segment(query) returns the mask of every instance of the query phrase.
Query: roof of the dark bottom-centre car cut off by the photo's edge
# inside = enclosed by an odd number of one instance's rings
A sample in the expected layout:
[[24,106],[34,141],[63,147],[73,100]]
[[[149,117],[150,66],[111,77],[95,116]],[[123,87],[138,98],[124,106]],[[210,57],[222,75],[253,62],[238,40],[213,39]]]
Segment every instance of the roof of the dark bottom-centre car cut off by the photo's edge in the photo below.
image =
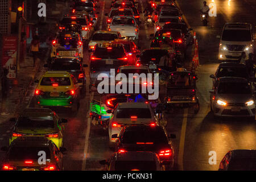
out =
[[127,152],[116,152],[116,160],[121,161],[155,161],[157,158],[154,152],[144,152],[144,151],[127,151]]

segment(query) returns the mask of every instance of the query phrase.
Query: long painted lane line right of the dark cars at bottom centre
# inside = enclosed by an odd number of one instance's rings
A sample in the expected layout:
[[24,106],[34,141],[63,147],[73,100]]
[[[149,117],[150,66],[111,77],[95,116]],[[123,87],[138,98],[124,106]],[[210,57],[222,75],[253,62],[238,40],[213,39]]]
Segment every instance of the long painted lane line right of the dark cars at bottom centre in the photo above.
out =
[[182,127],[181,127],[179,156],[178,156],[178,164],[180,167],[179,169],[181,171],[183,171],[183,154],[184,154],[184,144],[185,144],[187,121],[188,121],[188,108],[185,108],[184,114],[183,114]]

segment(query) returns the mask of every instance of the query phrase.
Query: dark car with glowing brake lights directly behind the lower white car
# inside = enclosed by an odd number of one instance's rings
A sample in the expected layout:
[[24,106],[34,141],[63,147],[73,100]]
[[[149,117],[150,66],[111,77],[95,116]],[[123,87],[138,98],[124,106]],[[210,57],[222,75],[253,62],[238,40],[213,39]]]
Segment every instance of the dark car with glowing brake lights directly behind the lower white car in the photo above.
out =
[[174,167],[175,151],[170,139],[175,138],[175,135],[168,135],[162,126],[127,125],[123,127],[119,137],[115,134],[112,138],[116,139],[115,151],[155,152],[167,169]]

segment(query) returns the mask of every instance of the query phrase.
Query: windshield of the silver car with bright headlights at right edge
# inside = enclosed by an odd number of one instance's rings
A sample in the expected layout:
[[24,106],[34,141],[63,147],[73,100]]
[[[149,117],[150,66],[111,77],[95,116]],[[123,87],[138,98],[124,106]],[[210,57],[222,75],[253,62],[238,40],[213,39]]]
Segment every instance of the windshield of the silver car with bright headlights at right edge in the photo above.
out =
[[250,85],[241,82],[221,82],[218,86],[220,94],[251,94]]

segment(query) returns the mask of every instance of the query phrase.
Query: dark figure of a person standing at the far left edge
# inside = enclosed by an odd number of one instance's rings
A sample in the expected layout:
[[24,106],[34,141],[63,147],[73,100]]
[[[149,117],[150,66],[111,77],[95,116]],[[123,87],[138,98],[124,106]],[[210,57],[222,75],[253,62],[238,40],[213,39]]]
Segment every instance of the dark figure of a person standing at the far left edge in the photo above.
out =
[[8,80],[7,80],[7,74],[9,73],[8,69],[6,69],[5,67],[3,67],[2,70],[2,74],[1,74],[1,93],[2,93],[2,103],[1,103],[1,110],[2,113],[1,115],[9,115],[10,113],[7,112],[6,109],[6,99],[7,99],[7,93],[9,90],[9,84],[8,84]]

